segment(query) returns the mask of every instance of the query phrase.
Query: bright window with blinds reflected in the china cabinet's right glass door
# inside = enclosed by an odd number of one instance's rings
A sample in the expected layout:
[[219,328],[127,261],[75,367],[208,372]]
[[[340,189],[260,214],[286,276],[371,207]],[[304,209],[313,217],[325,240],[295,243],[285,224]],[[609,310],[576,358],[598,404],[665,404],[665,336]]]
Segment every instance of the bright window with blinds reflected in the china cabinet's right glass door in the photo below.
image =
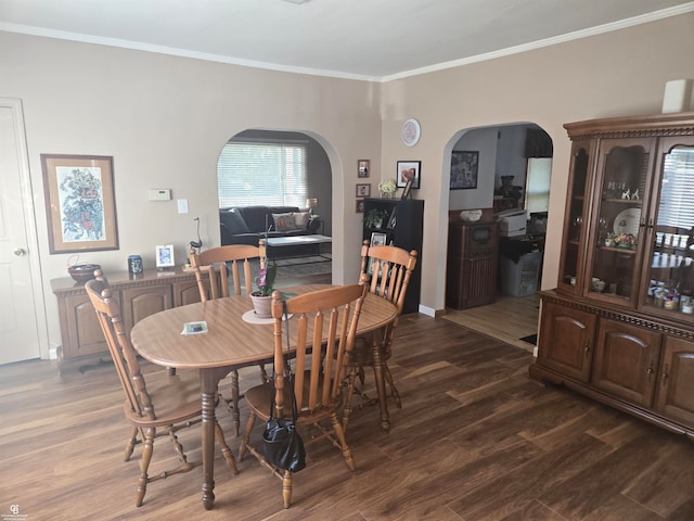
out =
[[694,149],[678,147],[665,156],[657,225],[694,227]]

